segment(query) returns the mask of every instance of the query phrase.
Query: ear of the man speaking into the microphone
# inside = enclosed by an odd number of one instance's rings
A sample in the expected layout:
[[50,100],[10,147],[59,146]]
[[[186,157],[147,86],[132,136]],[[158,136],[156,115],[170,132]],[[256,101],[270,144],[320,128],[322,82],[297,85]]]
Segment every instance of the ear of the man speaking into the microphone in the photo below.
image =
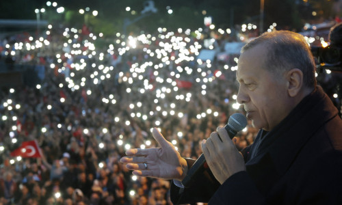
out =
[[289,96],[297,96],[303,87],[303,72],[298,68],[289,70],[286,74],[287,79],[287,91]]

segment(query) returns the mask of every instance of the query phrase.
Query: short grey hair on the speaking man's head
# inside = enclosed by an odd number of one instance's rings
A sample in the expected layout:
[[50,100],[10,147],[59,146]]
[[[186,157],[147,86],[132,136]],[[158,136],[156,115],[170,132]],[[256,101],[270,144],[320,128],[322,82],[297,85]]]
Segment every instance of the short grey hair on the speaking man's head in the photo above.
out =
[[315,60],[304,37],[291,31],[265,32],[258,38],[248,42],[241,53],[259,44],[267,46],[265,68],[274,74],[282,74],[287,70],[298,68],[303,72],[306,87],[315,87]]

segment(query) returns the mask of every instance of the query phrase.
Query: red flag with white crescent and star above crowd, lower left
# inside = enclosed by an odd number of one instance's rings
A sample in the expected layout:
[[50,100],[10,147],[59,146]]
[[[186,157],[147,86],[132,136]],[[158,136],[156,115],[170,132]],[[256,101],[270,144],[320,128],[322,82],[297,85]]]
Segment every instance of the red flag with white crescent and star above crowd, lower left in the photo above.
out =
[[21,146],[11,152],[11,156],[22,156],[27,158],[40,158],[42,154],[40,153],[40,148],[36,140],[23,141]]

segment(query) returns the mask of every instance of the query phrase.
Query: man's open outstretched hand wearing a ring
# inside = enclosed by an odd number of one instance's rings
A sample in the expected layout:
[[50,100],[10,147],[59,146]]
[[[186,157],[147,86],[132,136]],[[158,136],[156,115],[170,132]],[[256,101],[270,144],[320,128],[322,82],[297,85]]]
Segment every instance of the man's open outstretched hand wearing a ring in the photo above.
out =
[[136,176],[183,180],[187,174],[187,162],[181,157],[170,141],[153,128],[153,137],[160,148],[130,149],[127,156],[120,159],[127,163],[127,169],[134,170]]

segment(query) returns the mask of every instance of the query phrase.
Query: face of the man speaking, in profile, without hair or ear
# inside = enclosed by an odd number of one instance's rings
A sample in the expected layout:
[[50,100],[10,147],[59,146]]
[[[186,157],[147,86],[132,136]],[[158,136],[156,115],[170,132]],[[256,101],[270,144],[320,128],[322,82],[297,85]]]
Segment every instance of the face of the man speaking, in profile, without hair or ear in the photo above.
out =
[[289,113],[287,81],[283,74],[267,71],[267,47],[259,44],[241,54],[238,61],[237,102],[244,105],[247,118],[256,128],[271,131]]

